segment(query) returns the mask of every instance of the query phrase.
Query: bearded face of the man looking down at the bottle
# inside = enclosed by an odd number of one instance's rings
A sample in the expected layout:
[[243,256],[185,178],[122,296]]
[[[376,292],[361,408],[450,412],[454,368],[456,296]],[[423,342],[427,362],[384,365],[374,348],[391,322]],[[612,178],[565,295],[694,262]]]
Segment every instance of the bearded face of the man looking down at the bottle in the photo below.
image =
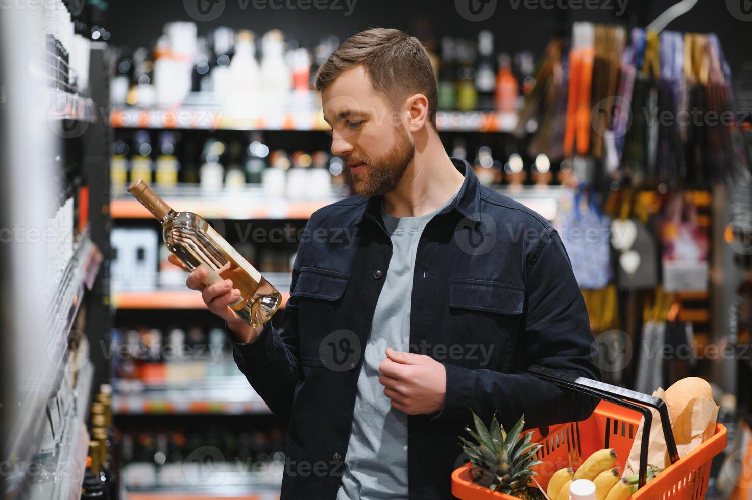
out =
[[324,120],[332,126],[332,153],[366,198],[392,191],[413,159],[411,135],[384,97],[374,92],[362,66],[343,71],[321,92]]

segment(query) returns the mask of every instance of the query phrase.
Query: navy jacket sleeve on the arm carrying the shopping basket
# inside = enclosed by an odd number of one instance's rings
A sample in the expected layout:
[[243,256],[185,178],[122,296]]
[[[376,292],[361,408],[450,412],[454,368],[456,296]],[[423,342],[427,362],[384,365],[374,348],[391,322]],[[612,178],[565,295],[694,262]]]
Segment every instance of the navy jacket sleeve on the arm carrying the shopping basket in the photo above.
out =
[[[526,317],[518,337],[521,346],[515,350],[523,356],[521,366],[540,365],[599,380],[593,332],[569,256],[556,229],[549,228],[541,241],[527,265]],[[496,412],[507,429],[524,414],[530,428],[584,420],[598,403],[525,371],[502,374],[444,366],[447,389],[435,421],[465,426],[472,408],[485,422]]]

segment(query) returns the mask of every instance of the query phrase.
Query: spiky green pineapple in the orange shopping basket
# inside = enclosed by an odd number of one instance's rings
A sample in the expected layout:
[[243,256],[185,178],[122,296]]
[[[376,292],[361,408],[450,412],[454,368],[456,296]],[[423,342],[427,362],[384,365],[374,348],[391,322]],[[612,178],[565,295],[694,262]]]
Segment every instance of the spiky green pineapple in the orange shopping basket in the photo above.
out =
[[464,443],[460,444],[462,450],[465,450],[472,462],[472,480],[482,486],[488,486],[491,491],[523,500],[543,498],[541,490],[532,485],[532,476],[535,476],[532,467],[543,463],[535,459],[535,453],[543,445],[530,442],[532,433],[527,433],[520,439],[525,416],[520,417],[510,432],[505,432],[496,421],[496,414],[488,429],[475,412],[471,413],[475,422],[475,432],[469,426],[465,427],[465,431],[478,443],[473,444],[462,436],[459,436],[459,439]]

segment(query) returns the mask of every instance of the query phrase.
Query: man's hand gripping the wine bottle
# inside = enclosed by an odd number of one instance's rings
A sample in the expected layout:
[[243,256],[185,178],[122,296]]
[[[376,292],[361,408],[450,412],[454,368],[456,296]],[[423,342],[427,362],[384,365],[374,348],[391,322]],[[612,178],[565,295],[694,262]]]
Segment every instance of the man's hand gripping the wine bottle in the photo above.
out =
[[[190,269],[186,268],[186,266],[183,265],[183,262],[180,262],[180,259],[177,259],[176,256],[170,254],[168,259],[171,264],[177,265],[177,267],[182,268],[185,271],[190,271]],[[232,309],[229,308],[229,305],[232,304],[232,302],[238,300],[240,290],[232,288],[231,280],[223,280],[220,283],[206,286],[204,280],[207,276],[208,271],[206,269],[196,269],[196,271],[191,272],[188,279],[186,279],[186,286],[190,289],[201,292],[201,297],[204,299],[206,307],[209,311],[217,314],[217,316],[227,322],[227,326],[234,334],[235,341],[246,344],[247,342],[255,340],[261,333],[263,326],[257,326],[255,328],[250,326],[248,323],[241,320],[241,318],[238,317],[238,314],[235,314],[235,311],[232,311]]]

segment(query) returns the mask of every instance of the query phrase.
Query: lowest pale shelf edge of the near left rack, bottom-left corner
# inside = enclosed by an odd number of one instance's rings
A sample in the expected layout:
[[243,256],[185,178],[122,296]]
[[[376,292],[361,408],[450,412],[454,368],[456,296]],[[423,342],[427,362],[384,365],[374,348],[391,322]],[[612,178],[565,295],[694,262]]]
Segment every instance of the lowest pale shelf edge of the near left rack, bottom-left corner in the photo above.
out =
[[87,364],[80,369],[74,411],[65,421],[62,445],[57,457],[54,477],[43,483],[32,483],[30,500],[68,500],[80,498],[83,474],[86,471],[86,454],[89,452],[89,432],[86,430],[86,412],[89,393],[94,379],[94,366]]

